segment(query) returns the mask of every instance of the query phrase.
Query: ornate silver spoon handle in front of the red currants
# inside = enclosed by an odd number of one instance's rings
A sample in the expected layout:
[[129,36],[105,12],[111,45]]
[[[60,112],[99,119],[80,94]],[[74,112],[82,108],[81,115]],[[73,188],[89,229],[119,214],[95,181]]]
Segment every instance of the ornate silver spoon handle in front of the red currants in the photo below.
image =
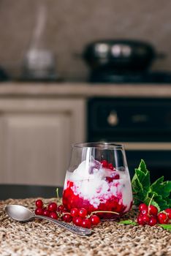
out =
[[88,229],[88,228],[85,228],[85,227],[77,227],[77,226],[74,226],[74,225],[70,225],[66,222],[60,222],[60,220],[58,220],[58,219],[51,219],[49,217],[45,217],[45,216],[42,216],[42,215],[34,215],[34,218],[49,220],[50,222],[56,223],[59,226],[66,228],[66,230],[69,230],[72,233],[76,233],[77,235],[80,235],[80,236],[91,235],[91,230]]

